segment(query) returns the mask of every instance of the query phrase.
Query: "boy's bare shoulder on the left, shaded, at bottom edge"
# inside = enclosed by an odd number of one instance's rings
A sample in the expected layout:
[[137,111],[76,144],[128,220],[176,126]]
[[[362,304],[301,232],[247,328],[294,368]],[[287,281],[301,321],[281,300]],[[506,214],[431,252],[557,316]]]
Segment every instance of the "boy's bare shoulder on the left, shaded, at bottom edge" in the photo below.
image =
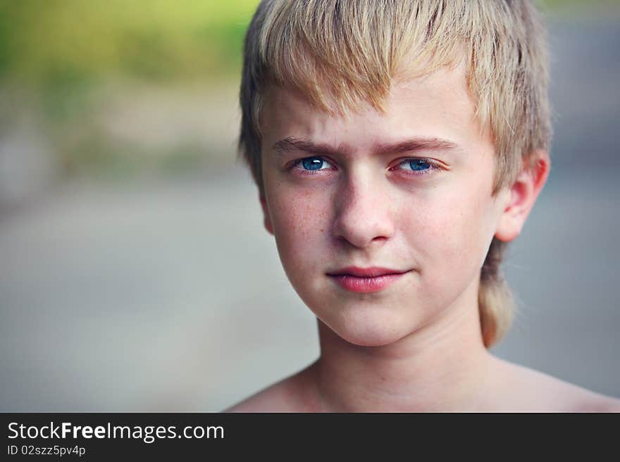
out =
[[223,412],[316,411],[310,391],[309,368],[280,380]]

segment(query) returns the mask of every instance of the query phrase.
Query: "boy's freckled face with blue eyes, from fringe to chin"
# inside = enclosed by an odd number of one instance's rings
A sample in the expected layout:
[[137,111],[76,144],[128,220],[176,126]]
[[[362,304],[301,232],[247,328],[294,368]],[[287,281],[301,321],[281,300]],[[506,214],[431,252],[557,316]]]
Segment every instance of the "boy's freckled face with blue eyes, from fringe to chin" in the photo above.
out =
[[445,309],[477,306],[511,194],[491,195],[494,148],[464,68],[397,84],[383,114],[333,117],[280,88],[266,99],[265,224],[321,321],[349,342],[385,345]]

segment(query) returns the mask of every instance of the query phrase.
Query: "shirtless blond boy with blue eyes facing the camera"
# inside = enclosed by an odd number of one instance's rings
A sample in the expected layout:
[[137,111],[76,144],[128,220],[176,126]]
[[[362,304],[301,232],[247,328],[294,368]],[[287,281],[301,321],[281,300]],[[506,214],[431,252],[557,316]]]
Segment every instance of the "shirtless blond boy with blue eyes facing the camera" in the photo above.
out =
[[618,411],[488,352],[550,169],[528,1],[266,0],[240,146],[321,357],[230,411]]

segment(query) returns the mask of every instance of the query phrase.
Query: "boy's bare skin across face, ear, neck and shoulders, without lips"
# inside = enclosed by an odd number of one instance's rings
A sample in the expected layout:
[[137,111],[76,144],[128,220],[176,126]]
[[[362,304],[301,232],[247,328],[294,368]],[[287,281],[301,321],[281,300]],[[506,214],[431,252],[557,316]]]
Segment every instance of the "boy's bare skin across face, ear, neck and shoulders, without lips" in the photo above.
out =
[[[328,115],[272,89],[261,124],[265,227],[316,314],[321,357],[228,411],[620,411],[483,345],[481,265],[494,236],[519,236],[550,160],[533,153],[492,194],[494,146],[463,66],[397,84],[385,113]],[[401,276],[364,293],[333,277],[347,267]]]

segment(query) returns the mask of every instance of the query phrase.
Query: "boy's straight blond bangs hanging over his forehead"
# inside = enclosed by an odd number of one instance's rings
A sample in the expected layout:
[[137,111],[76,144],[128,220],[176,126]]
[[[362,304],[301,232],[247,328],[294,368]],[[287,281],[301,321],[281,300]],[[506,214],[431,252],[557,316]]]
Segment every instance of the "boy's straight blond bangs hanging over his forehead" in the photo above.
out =
[[459,44],[470,27],[459,3],[274,0],[259,37],[265,79],[329,113],[361,102],[383,110],[395,79],[463,58]]

